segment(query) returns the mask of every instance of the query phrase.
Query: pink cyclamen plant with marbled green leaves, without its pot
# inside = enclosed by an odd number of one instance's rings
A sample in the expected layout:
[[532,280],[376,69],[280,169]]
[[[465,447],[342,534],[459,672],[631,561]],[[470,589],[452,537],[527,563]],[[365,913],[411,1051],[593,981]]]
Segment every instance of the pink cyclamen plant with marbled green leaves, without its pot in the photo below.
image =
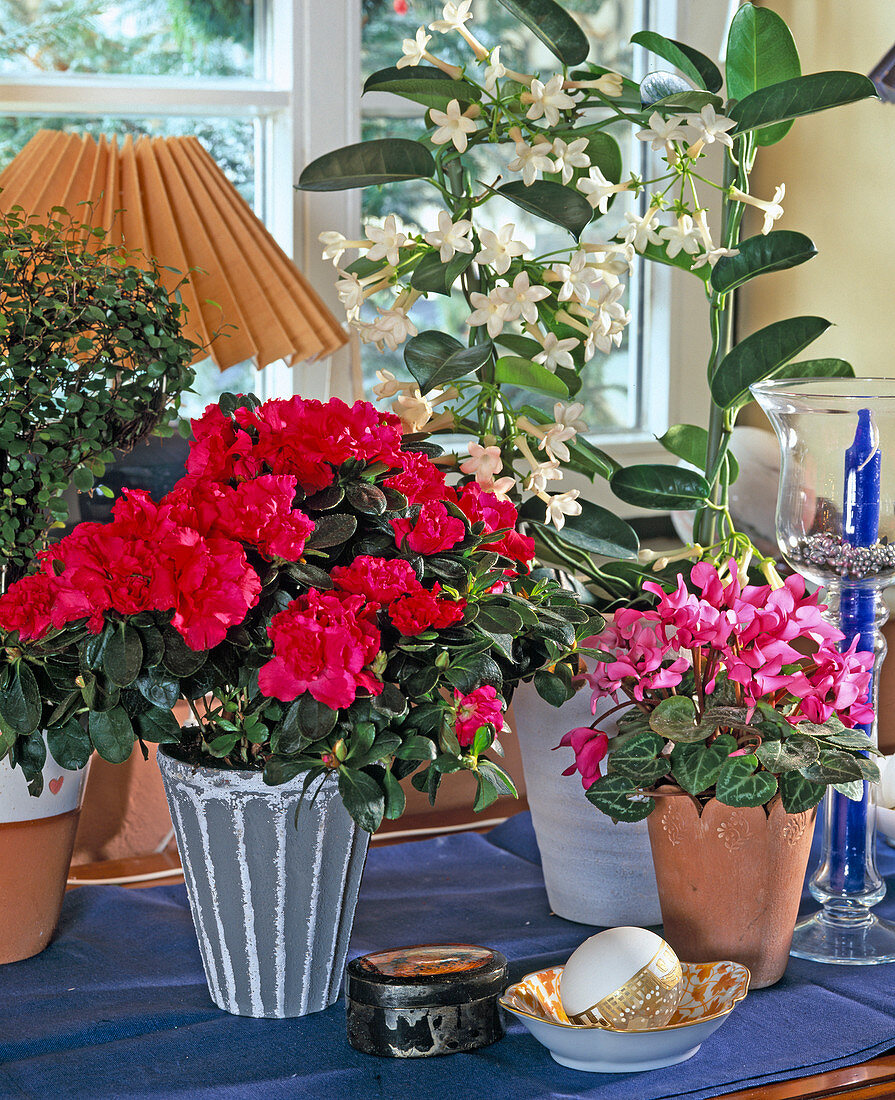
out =
[[830,784],[860,799],[863,780],[879,780],[862,755],[876,750],[853,729],[873,721],[873,654],[855,651],[857,637],[836,648],[843,635],[800,576],[742,586],[733,562],[726,579],[699,562],[671,593],[644,587],[655,607],[617,612],[593,640],[604,657],[587,681],[594,713],[606,708],[561,741],[575,754],[565,774],[581,774],[598,810],[639,821],[651,795],[701,809],[712,796],[759,806],[778,793],[799,813]]

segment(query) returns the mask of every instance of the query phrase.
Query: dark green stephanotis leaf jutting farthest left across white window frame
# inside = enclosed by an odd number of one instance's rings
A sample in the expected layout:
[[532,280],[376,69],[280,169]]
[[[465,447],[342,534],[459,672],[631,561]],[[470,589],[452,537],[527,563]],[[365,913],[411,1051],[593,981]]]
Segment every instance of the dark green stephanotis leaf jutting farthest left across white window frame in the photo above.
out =
[[383,138],[324,153],[305,168],[297,187],[302,191],[339,191],[401,179],[428,179],[434,174],[432,154],[420,142]]

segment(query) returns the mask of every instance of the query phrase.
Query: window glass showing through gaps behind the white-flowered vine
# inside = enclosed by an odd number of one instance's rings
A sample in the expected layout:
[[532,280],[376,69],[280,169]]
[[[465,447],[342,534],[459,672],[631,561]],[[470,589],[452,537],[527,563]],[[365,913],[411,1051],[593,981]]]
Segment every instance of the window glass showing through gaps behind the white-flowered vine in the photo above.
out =
[[[593,0],[565,0],[567,10],[575,12],[581,25],[592,40],[590,61],[625,74],[632,73],[632,53],[630,36],[639,26],[642,4],[638,0],[604,0],[596,6]],[[365,76],[379,68],[395,64],[400,57],[400,42],[412,38],[419,25],[428,26],[430,22],[441,18],[442,0],[407,0],[407,14],[396,13],[394,0],[364,0],[364,73]],[[596,10],[595,10],[596,9]],[[524,26],[521,26],[513,15],[498,3],[497,0],[475,0],[473,4],[475,19],[471,25],[476,36],[487,47],[500,45],[500,58],[507,65],[522,72],[557,72],[559,63],[546,47]],[[638,26],[634,23],[638,23]],[[432,33],[429,48],[438,57],[456,64],[468,64],[471,51],[456,34]],[[408,118],[408,110],[413,110],[407,101],[396,98],[397,111],[404,117],[368,117],[364,120],[364,140],[374,138],[417,138],[423,132],[420,118]],[[420,114],[422,108],[419,108]],[[611,132],[611,131],[610,131]],[[643,155],[641,143],[632,138],[630,128],[620,128],[614,136],[622,145],[622,156],[626,165],[638,165]],[[476,161],[477,178],[493,182],[498,173],[504,172],[512,158],[511,146],[496,148],[494,146],[478,147],[471,154]],[[395,213],[412,232],[428,232],[435,227],[438,211],[441,209],[438,193],[423,180],[411,180],[406,184],[390,185],[383,188],[368,187],[363,191],[363,216],[367,218],[385,218]],[[629,195],[618,196],[608,216],[585,231],[588,241],[606,241],[623,224],[626,210],[632,209],[633,199]],[[490,199],[476,211],[477,224],[488,229],[497,229],[506,222],[516,227],[513,237],[531,246],[530,255],[549,253],[554,250],[568,249],[571,238],[563,230],[550,222],[543,221],[509,202]],[[576,400],[586,406],[586,419],[593,430],[604,433],[630,432],[643,428],[642,410],[639,395],[643,387],[639,384],[641,362],[639,349],[642,344],[641,331],[643,309],[637,305],[639,295],[639,276],[634,274],[628,279],[628,290],[625,306],[632,310],[632,321],[626,328],[621,346],[611,354],[597,355],[587,364],[582,375],[582,389]],[[383,296],[379,305],[389,305],[387,296]],[[440,329],[453,336],[463,337],[468,308],[458,292],[451,298],[443,295],[430,295],[420,299],[415,307],[412,318],[417,327],[423,329]],[[512,329],[515,331],[515,329]],[[369,392],[375,383],[376,371],[388,370],[398,377],[408,377],[404,366],[402,349],[379,353],[375,346],[362,345],[362,363],[364,384]],[[553,402],[548,397],[526,394],[526,400],[551,409]]]

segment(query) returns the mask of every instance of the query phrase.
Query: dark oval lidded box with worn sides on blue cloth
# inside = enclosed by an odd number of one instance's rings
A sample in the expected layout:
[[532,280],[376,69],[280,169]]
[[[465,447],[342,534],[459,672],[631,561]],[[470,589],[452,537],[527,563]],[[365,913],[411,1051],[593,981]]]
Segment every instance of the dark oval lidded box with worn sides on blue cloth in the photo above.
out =
[[363,955],[347,966],[349,1042],[393,1058],[488,1046],[504,1035],[497,998],[506,987],[506,958],[474,944]]

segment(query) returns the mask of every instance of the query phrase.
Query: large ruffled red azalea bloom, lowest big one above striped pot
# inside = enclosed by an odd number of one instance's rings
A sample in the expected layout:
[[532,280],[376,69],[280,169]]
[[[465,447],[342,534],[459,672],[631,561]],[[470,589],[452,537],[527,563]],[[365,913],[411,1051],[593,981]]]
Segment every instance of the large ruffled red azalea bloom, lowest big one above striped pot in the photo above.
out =
[[376,606],[363,596],[311,588],[270,619],[274,656],[258,672],[263,695],[289,703],[306,692],[339,710],[358,691],[378,695],[371,666],[379,652]]

